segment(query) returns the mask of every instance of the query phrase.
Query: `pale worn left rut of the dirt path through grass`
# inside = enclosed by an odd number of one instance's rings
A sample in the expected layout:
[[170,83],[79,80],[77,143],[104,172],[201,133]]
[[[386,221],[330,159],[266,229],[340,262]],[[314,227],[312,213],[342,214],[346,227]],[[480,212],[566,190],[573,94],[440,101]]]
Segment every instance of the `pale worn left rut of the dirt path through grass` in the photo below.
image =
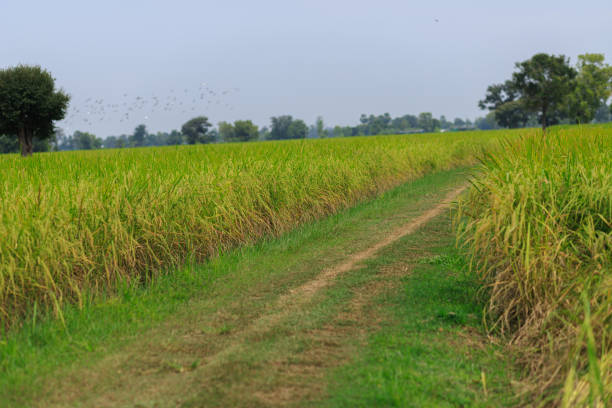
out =
[[[275,336],[275,330],[281,330],[282,337],[282,322],[299,319],[303,309],[308,308],[322,289],[329,287],[340,275],[374,257],[383,248],[414,233],[440,215],[465,189],[465,186],[453,189],[433,208],[392,230],[382,240],[348,256],[340,264],[322,270],[314,279],[279,296],[273,307],[249,324],[226,335],[221,333],[210,336],[202,333],[201,322],[184,322],[185,327],[181,327],[179,332],[170,331],[165,337],[163,333],[158,333],[152,336],[148,343],[110,355],[93,367],[72,373],[71,378],[67,380],[79,384],[78,387],[57,387],[49,390],[49,398],[41,401],[38,406],[192,406],[185,403],[189,400],[186,397],[197,394],[202,388],[214,393],[214,390],[211,391],[211,386],[214,387],[211,384],[224,381],[227,376],[248,375],[243,372],[248,371],[248,364],[245,366],[240,361],[240,356],[248,354],[254,344],[258,345],[270,336]],[[367,287],[364,289],[367,290]],[[355,305],[350,307],[354,309]],[[331,334],[332,337],[337,335],[338,333]],[[322,338],[324,341],[331,341],[329,333]],[[320,358],[318,360],[317,364],[325,364]],[[262,363],[256,361],[249,364]],[[227,381],[232,381],[232,378],[227,378]],[[237,388],[233,392],[248,391]],[[270,393],[260,393],[260,405],[285,405],[296,396],[294,394],[285,388],[273,392],[274,398],[270,397]],[[280,398],[276,398],[279,395]]]

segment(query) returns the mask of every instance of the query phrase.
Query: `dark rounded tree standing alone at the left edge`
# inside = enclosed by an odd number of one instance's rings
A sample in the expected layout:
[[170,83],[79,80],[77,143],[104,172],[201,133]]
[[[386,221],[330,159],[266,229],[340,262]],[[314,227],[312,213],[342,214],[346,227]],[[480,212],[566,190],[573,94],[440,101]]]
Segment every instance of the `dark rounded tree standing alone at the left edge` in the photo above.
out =
[[53,137],[53,122],[66,115],[70,97],[40,66],[0,70],[0,134],[19,140],[22,156],[31,156],[34,138]]

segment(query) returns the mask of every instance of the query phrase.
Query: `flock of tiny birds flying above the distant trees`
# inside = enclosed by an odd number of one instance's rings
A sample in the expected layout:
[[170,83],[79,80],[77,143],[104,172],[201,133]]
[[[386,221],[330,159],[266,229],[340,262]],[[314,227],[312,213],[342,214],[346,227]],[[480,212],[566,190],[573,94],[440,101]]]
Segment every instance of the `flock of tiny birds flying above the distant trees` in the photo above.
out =
[[238,88],[215,90],[202,82],[198,87],[170,89],[165,96],[141,96],[123,93],[120,101],[87,98],[71,101],[62,127],[66,130],[76,126],[93,126],[106,121],[146,123],[154,115],[164,112],[182,114],[201,113],[213,106],[233,110],[226,101]]

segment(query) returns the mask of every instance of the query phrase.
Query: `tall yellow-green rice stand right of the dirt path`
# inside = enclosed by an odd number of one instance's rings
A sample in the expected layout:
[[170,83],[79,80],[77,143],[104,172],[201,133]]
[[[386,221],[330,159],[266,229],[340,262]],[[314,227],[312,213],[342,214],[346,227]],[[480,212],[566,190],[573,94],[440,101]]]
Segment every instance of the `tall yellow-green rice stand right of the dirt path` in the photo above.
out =
[[612,127],[507,141],[457,215],[492,329],[527,368],[526,400],[610,406]]

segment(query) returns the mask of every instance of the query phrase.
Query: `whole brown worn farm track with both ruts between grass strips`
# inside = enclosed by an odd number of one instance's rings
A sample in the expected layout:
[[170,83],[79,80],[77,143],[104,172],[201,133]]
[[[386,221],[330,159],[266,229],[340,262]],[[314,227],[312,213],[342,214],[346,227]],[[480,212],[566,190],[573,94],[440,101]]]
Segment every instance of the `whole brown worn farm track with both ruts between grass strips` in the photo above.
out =
[[[290,328],[291,322],[300,321],[305,311],[316,307],[317,295],[324,288],[333,285],[342,274],[375,257],[383,248],[414,233],[442,214],[465,189],[465,185],[452,189],[433,207],[392,229],[382,239],[350,254],[334,266],[323,268],[313,279],[289,288],[257,316],[249,316],[247,313],[246,318],[236,323],[231,312],[218,310],[214,316],[207,318],[209,325],[221,327],[214,333],[203,330],[201,321],[173,322],[162,330],[165,333],[157,333],[150,339],[135,342],[142,344],[141,346],[128,347],[85,370],[77,369],[70,373],[64,384],[73,383],[72,379],[80,386],[55,388],[55,384],[53,389],[48,391],[49,398],[39,401],[37,406],[209,406],[189,401],[194,401],[192,397],[201,393],[201,389],[206,389],[207,394],[215,394],[215,383],[249,382],[245,376],[248,376],[249,367],[252,365],[277,366],[274,370],[278,371],[278,365],[282,366],[283,363],[274,359],[266,361],[267,357],[264,356],[262,361],[249,361],[241,356],[247,355],[253,344],[261,345],[270,340],[273,340],[275,347],[278,343],[282,347],[285,337],[295,336],[295,332]],[[405,268],[402,271],[406,273]],[[293,386],[272,386],[268,392],[257,391],[254,393],[254,399],[245,406],[286,406],[323,391],[321,380],[324,370],[340,364],[348,357],[346,350],[339,347],[341,338],[355,336],[372,324],[360,310],[363,304],[368,302],[367,299],[378,293],[378,289],[364,285],[360,290],[347,306],[348,313],[352,314],[353,320],[357,320],[358,327],[307,330],[308,341],[318,344],[319,348],[315,353],[317,356],[311,353],[310,358],[306,358],[308,361],[304,361],[303,355],[296,355],[296,358],[302,360],[302,363],[298,364],[300,371],[307,371],[298,373],[297,382],[304,382],[305,374],[310,382]],[[231,327],[232,324],[238,327]],[[224,327],[231,328],[225,330]],[[281,367],[280,370],[288,378],[296,375],[287,372],[286,367]],[[236,384],[233,392],[253,392],[253,389],[249,388],[248,384]],[[226,406],[242,405],[236,401],[228,404]],[[210,406],[223,404],[211,402]]]

